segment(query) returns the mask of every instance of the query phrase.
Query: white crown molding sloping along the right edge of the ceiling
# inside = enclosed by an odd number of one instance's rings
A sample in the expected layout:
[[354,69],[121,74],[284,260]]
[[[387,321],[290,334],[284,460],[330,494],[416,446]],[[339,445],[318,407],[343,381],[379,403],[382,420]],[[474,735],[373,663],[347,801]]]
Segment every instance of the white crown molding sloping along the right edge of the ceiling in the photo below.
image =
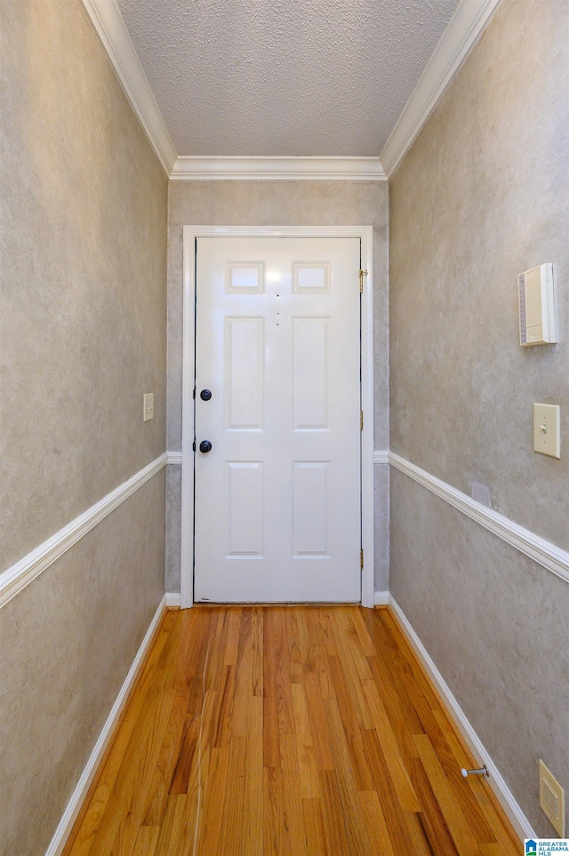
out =
[[500,3],[501,0],[461,0],[456,7],[453,18],[381,151],[381,163],[389,177],[412,147]]

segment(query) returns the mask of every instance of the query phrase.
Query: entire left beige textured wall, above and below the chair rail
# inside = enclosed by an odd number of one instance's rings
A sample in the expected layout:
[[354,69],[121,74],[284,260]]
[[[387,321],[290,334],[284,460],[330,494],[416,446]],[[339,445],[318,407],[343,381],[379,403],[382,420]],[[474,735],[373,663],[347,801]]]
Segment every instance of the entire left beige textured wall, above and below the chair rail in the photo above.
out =
[[[167,180],[78,0],[2,0],[0,63],[2,572],[164,452]],[[2,856],[44,852],[156,612],[164,502],[0,610]]]

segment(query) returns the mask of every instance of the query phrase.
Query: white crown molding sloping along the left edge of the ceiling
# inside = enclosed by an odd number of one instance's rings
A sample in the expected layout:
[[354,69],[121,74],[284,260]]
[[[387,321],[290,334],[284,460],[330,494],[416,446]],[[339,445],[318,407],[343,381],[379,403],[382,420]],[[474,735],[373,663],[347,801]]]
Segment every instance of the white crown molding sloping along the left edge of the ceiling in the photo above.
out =
[[81,0],[111,66],[148,136],[164,171],[170,176],[176,150],[134,50],[116,0]]

